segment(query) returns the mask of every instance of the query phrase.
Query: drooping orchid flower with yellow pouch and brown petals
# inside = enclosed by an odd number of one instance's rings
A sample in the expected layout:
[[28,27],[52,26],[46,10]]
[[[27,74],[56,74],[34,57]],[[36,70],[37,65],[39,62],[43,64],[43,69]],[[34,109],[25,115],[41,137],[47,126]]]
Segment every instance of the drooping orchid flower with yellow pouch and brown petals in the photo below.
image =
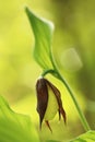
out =
[[49,120],[52,120],[57,111],[59,113],[59,119],[61,115],[66,123],[66,111],[62,107],[62,100],[59,90],[52,85],[48,80],[40,78],[36,83],[37,94],[37,111],[39,114],[39,126],[45,120],[48,128],[51,130]]

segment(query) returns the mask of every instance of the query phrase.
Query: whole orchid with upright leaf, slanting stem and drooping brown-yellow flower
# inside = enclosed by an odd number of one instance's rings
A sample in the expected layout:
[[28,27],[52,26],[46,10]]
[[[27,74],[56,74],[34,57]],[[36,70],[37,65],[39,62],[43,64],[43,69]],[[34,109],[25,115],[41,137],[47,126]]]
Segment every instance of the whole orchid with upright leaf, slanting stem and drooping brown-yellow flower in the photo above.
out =
[[[67,115],[62,106],[60,91],[55,85],[52,85],[51,82],[45,79],[45,76],[48,73],[50,73],[51,75],[54,75],[55,78],[57,78],[63,83],[63,85],[68,90],[75,105],[75,108],[79,113],[84,130],[86,132],[91,131],[90,125],[84,114],[81,110],[81,107],[75,98],[73,91],[71,90],[70,85],[68,84],[63,75],[61,75],[57,67],[57,63],[54,59],[54,56],[51,52],[52,35],[54,35],[54,27],[55,27],[54,23],[43,17],[37,16],[28,8],[26,8],[25,11],[29,20],[29,24],[32,26],[34,37],[35,37],[34,59],[43,69],[43,73],[40,75],[41,78],[38,79],[37,84],[36,84],[37,111],[39,114],[40,128],[41,128],[43,119],[45,119],[46,125],[48,126],[50,131],[52,131],[49,126],[49,120],[55,117],[57,110],[59,111],[59,118],[60,118],[60,115],[62,115],[64,122],[67,121]],[[80,142],[81,142],[81,139],[80,139]]]

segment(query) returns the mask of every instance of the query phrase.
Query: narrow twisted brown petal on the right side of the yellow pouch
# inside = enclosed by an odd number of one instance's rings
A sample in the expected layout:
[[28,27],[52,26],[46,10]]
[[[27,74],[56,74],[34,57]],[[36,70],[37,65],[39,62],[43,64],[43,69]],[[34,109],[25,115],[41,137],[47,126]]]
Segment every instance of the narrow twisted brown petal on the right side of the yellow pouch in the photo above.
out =
[[[45,80],[46,80],[46,79],[45,79]],[[56,97],[57,97],[58,105],[59,105],[59,110],[58,110],[58,111],[59,111],[59,119],[61,118],[61,115],[62,115],[63,120],[64,120],[64,123],[66,123],[67,117],[66,117],[66,111],[64,111],[64,109],[63,109],[63,107],[62,107],[62,100],[61,100],[60,92],[59,92],[59,90],[58,90],[55,85],[52,85],[49,81],[46,80],[46,82],[47,82],[47,84],[50,86],[50,88],[52,90],[54,94],[55,94]]]

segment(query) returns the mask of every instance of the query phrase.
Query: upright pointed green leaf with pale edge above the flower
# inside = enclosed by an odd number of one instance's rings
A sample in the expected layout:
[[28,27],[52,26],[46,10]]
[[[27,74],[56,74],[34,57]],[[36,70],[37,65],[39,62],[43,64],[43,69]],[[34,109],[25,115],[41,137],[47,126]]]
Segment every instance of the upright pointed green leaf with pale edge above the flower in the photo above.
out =
[[43,69],[52,69],[51,42],[54,24],[25,9],[35,37],[34,58]]

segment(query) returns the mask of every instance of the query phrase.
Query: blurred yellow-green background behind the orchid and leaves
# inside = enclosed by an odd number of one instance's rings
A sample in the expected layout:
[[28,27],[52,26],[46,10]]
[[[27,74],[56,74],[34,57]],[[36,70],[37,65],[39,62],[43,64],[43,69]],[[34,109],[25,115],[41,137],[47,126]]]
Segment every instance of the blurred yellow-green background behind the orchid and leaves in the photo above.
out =
[[13,110],[32,117],[41,141],[66,141],[84,132],[69,93],[50,75],[47,78],[61,91],[68,125],[58,122],[57,116],[50,122],[54,134],[45,123],[39,131],[35,83],[41,69],[32,56],[34,36],[25,5],[55,23],[54,57],[95,129],[95,0],[0,1],[0,94]]

